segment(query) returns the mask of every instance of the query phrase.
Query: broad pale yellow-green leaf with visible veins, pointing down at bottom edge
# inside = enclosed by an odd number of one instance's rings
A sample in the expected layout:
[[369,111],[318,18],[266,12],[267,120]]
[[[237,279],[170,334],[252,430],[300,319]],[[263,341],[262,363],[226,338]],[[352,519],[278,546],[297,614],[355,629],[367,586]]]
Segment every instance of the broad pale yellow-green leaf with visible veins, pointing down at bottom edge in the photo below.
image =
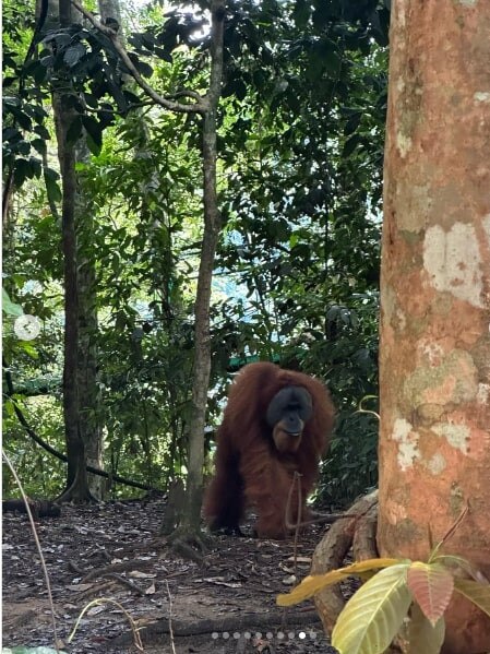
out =
[[381,570],[352,595],[338,616],[332,645],[340,654],[381,654],[398,631],[411,595],[409,563]]

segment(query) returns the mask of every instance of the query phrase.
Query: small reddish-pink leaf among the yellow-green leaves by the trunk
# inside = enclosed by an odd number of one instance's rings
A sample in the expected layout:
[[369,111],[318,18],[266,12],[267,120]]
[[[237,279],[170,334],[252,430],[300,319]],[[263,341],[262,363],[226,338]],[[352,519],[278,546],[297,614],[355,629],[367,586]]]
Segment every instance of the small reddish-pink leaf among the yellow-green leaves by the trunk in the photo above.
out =
[[426,618],[435,622],[444,615],[454,588],[451,572],[439,563],[415,561],[407,573],[407,584]]

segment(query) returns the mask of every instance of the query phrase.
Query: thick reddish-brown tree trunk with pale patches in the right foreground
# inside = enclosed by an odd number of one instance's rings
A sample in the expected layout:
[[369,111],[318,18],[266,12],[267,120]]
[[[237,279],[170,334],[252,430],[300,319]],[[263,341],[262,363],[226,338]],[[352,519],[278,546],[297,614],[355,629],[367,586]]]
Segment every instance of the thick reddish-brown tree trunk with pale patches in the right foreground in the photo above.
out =
[[[444,551],[490,579],[490,2],[392,3],[381,319],[382,556]],[[450,606],[443,652],[490,651]]]

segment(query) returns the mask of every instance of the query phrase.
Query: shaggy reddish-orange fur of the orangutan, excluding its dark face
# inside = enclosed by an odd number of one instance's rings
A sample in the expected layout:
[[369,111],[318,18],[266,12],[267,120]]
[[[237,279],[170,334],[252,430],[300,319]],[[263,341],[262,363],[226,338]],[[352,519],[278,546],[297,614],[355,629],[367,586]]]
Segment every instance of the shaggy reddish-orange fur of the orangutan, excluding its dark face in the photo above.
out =
[[[278,452],[265,414],[274,395],[288,385],[307,389],[312,397],[313,415],[304,425],[299,445]],[[333,420],[330,394],[319,380],[282,370],[274,364],[250,364],[242,368],[230,387],[217,433],[216,473],[204,499],[204,516],[210,526],[238,530],[246,508],[253,506],[259,514],[258,536],[284,538],[292,473],[301,474],[304,502],[316,480]],[[279,433],[279,438],[287,435]],[[304,511],[303,507],[303,518]],[[290,512],[295,518],[296,498]]]

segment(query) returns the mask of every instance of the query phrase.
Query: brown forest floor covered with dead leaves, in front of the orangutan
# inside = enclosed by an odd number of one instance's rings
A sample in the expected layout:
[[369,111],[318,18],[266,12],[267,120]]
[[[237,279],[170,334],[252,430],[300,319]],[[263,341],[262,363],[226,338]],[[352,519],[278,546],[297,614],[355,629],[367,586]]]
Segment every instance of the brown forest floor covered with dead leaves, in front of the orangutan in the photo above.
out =
[[[311,602],[285,611],[294,543],[219,536],[203,562],[176,556],[158,537],[165,500],[63,506],[36,523],[63,652],[145,654],[334,654]],[[299,538],[298,581],[323,527]],[[52,618],[26,515],[3,514],[3,646],[53,646]],[[91,602],[70,644],[80,613]],[[116,604],[117,603],[117,604]]]

